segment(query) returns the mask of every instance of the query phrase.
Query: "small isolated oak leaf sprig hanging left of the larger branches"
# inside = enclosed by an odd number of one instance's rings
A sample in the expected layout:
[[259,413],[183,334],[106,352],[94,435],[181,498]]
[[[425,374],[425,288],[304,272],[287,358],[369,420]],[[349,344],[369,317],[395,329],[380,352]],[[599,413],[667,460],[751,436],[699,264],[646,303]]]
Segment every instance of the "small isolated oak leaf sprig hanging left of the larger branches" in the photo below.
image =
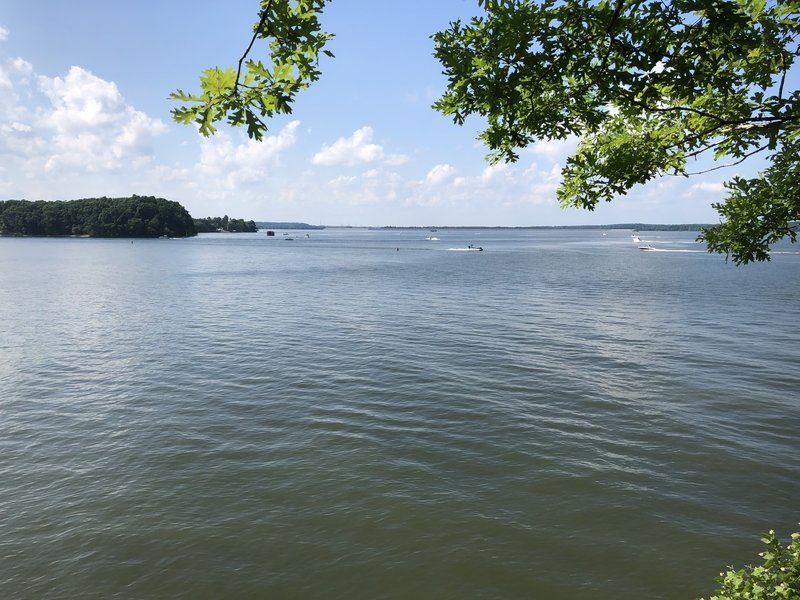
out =
[[[247,135],[261,140],[265,119],[290,114],[297,93],[319,79],[319,55],[330,33],[323,32],[319,15],[329,0],[261,0],[259,20],[250,45],[237,68],[213,67],[200,76],[200,93],[177,90],[172,100],[184,103],[172,110],[178,123],[195,123],[204,136],[225,120],[246,126]],[[256,42],[268,47],[267,60],[250,58]]]

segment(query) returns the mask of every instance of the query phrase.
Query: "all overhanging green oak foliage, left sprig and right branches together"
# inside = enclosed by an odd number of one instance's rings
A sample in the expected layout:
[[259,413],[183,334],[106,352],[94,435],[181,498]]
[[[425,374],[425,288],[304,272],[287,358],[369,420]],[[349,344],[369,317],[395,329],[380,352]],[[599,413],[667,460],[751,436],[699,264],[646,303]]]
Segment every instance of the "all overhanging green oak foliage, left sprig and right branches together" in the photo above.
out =
[[[330,0],[327,0],[330,1]],[[238,69],[209,69],[202,93],[172,98],[182,123],[214,133],[227,119],[261,139],[264,118],[291,112],[319,75],[331,34],[326,0],[261,0]],[[738,164],[760,154],[758,177],[732,178],[709,250],[737,263],[769,259],[800,220],[800,0],[478,0],[483,14],[433,36],[448,86],[434,107],[458,123],[487,122],[493,161],[537,140],[580,138],[563,169],[564,206],[594,209],[700,157]],[[269,43],[269,64],[248,58]],[[714,168],[719,168],[715,166]]]

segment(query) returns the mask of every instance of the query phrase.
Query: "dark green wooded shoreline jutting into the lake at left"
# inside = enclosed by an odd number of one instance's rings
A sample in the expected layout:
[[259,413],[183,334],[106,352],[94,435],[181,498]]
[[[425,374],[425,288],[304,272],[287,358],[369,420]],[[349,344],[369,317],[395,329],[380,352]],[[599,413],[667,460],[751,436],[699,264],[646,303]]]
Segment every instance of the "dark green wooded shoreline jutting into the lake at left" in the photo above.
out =
[[156,238],[257,229],[228,215],[194,219],[178,202],[154,196],[0,201],[0,235]]

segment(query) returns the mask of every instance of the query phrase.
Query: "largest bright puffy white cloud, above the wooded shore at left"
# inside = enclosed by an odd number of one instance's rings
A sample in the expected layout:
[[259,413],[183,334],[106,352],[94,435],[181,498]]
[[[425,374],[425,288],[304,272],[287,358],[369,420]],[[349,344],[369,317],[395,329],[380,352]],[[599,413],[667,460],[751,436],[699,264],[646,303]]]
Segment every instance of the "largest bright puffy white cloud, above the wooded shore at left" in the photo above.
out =
[[115,170],[147,160],[166,125],[125,103],[114,82],[71,67],[66,77],[39,77],[51,107],[38,125],[52,131],[45,169]]

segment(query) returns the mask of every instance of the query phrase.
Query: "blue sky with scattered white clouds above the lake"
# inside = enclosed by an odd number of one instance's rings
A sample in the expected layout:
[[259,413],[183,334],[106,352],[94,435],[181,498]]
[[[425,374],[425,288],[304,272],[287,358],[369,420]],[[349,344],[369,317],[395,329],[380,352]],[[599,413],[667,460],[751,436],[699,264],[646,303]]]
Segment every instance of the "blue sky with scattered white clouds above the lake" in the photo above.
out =
[[335,58],[263,141],[174,123],[170,92],[235,65],[257,10],[257,0],[3,0],[0,200],[138,194],[194,217],[331,226],[719,220],[711,203],[731,171],[661,178],[589,212],[555,195],[575,140],[489,165],[478,119],[459,127],[431,108],[446,79],[430,36],[477,14],[477,0],[335,0],[322,19]]

